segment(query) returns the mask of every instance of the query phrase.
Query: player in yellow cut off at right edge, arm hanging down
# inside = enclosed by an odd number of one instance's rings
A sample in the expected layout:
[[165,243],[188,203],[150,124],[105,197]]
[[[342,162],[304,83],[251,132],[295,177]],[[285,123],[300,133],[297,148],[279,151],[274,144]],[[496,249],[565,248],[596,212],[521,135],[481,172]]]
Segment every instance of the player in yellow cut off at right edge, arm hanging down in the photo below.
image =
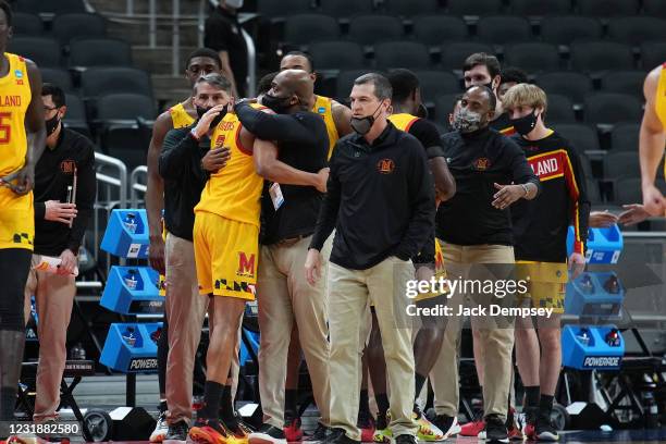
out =
[[625,206],[627,210],[619,215],[619,219],[620,223],[627,225],[639,223],[650,217],[666,214],[666,198],[654,185],[666,145],[666,63],[648,74],[643,84],[643,94],[645,111],[639,138],[643,205]]

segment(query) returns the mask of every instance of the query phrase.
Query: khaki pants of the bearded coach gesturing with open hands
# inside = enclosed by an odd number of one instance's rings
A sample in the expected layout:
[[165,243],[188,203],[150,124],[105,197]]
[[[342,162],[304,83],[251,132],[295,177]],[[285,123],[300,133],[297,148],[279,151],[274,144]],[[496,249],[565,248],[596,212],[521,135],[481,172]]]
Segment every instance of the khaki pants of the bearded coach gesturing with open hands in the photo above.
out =
[[[441,240],[440,240],[441,242]],[[469,266],[474,263],[514,263],[514,248],[503,245],[459,246],[442,243],[444,264],[451,280],[484,279],[488,276],[470,275]],[[458,306],[466,303],[467,296],[457,293],[449,299],[448,306],[454,313]],[[471,318],[472,328],[478,328]],[[462,317],[451,317],[446,325],[444,344],[440,357],[430,374],[434,390],[434,407],[437,415],[456,416],[458,414],[458,350]],[[479,328],[485,349],[483,403],[484,415],[496,414],[503,418],[507,415],[507,399],[511,381],[511,351],[514,349],[513,328]]]

